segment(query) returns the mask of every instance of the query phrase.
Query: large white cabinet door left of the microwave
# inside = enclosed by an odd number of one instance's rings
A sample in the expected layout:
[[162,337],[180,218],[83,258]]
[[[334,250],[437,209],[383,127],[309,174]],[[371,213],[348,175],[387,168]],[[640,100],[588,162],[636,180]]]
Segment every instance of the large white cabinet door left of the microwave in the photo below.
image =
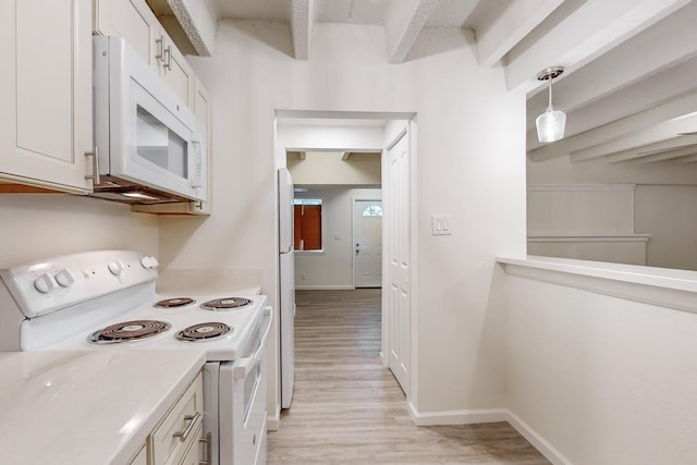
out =
[[90,0],[0,7],[0,178],[91,191]]

